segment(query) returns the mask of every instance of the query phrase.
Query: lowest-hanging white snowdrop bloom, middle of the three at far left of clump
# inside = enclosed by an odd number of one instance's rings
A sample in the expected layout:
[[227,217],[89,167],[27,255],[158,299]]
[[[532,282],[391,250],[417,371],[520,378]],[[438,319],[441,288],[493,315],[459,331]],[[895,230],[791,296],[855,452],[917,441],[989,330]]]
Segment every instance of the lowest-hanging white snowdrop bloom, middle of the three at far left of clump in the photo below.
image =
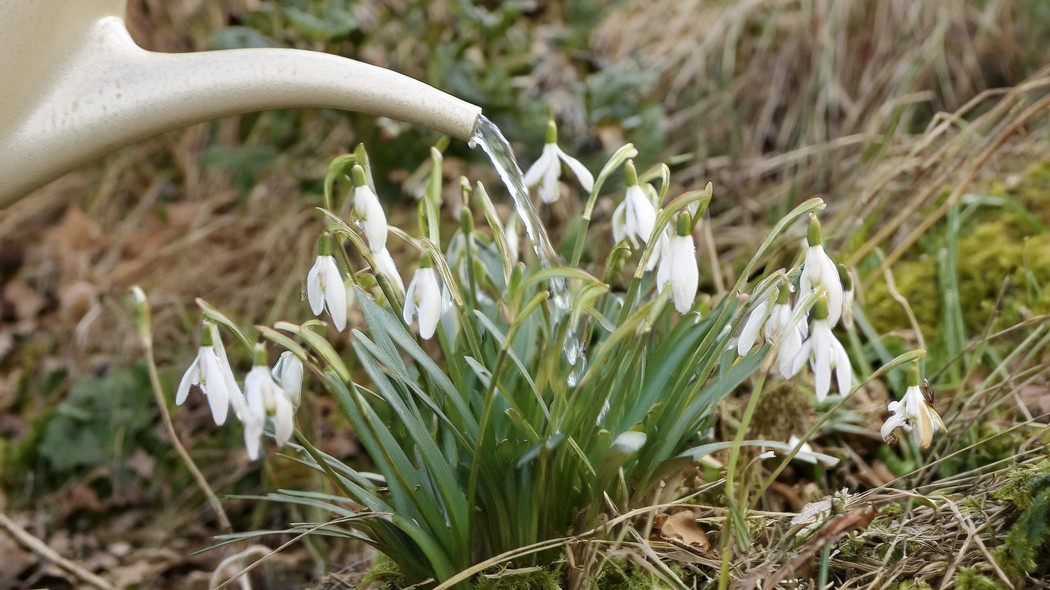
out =
[[292,438],[294,424],[292,415],[295,412],[292,401],[285,389],[273,379],[267,365],[266,347],[255,344],[255,363],[245,378],[245,397],[248,412],[245,416],[245,446],[248,457],[252,460],[259,456],[262,438],[262,426],[266,418],[273,419],[274,439],[281,447]]

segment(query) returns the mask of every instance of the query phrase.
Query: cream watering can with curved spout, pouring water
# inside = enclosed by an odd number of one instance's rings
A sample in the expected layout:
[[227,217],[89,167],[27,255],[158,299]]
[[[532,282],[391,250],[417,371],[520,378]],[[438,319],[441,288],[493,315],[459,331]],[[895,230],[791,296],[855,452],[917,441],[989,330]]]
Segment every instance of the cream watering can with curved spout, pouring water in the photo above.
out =
[[381,114],[469,140],[477,106],[405,76],[297,49],[155,54],[124,0],[0,0],[0,207],[102,154],[271,108]]

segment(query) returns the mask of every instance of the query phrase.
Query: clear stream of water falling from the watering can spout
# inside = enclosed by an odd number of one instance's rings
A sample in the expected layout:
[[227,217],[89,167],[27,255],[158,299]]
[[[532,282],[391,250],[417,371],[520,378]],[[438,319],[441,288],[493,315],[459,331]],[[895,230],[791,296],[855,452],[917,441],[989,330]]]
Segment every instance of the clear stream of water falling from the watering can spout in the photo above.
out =
[[[492,161],[492,166],[500,173],[500,178],[503,180],[507,191],[514,199],[514,209],[518,210],[518,216],[521,217],[522,225],[525,226],[525,232],[532,241],[532,250],[536,251],[536,257],[540,259],[540,265],[545,269],[549,269],[553,262],[561,262],[561,256],[558,255],[554,247],[550,244],[550,237],[547,236],[547,231],[540,222],[540,214],[537,212],[536,207],[532,207],[532,202],[529,199],[528,188],[525,187],[525,174],[522,173],[522,169],[518,166],[518,160],[514,159],[514,152],[510,149],[510,144],[507,143],[506,138],[500,132],[500,128],[485,118],[485,115],[478,118],[474,138],[470,139],[470,147],[477,146],[481,146],[481,149],[488,154],[488,159]],[[550,279],[550,299],[554,303],[554,323],[556,325],[558,321],[565,318],[569,313],[569,289],[564,278]],[[570,385],[575,384],[585,368],[584,357],[582,355],[583,349],[583,342],[576,330],[570,330],[565,342],[565,359],[569,361],[569,364],[574,365],[574,370],[569,376]]]

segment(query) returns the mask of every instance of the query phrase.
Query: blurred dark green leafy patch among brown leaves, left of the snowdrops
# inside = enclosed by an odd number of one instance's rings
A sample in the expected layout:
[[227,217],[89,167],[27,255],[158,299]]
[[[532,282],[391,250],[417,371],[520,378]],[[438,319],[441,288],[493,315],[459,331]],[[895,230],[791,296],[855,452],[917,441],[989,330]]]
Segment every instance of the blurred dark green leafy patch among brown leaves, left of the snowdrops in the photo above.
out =
[[56,472],[106,465],[149,440],[156,410],[142,365],[78,379],[55,408],[38,451]]

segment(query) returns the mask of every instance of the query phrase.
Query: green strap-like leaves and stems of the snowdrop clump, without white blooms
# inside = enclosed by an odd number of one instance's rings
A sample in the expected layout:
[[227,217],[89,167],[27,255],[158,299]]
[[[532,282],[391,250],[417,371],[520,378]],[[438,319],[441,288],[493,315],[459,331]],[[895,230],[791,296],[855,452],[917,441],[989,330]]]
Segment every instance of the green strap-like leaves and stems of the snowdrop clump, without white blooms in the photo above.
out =
[[[337,159],[326,177],[326,202],[334,204],[335,183],[344,183],[354,165],[366,167],[369,160],[363,149]],[[600,178],[625,160],[614,156]],[[432,166],[440,171],[441,159]],[[323,376],[375,472],[358,471],[300,438],[308,454],[303,461],[366,510],[348,513],[337,497],[319,492],[281,490],[268,499],[327,507],[348,518],[326,530],[346,527],[339,534],[375,546],[410,583],[448,581],[472,564],[537,543],[611,535],[614,530],[603,526],[610,506],[618,513],[644,506],[664,478],[734,446],[706,433],[718,403],[759,372],[769,351],[761,342],[740,358],[731,346],[747,311],[737,296],[743,280],[716,294],[702,316],[678,314],[644,271],[655,243],[625,277],[627,292],[620,295],[578,268],[513,262],[503,224],[480,184],[464,195],[472,207],[463,210],[458,231],[442,240],[440,224],[432,223],[439,201],[432,196],[420,207],[419,233],[425,237],[402,239],[429,260],[447,290],[433,341],[421,340],[402,319],[402,295],[390,277],[355,271],[342,248],[335,253],[349,269],[344,276],[354,282],[363,322],[351,330],[349,355],[340,356],[315,331],[316,320],[260,329],[262,337],[298,351],[313,373]],[[694,191],[671,199],[654,232],[669,227],[678,211],[705,207],[710,196]],[[751,267],[788,225],[821,205],[811,199],[792,211]],[[348,240],[376,268],[373,245],[365,244],[361,230],[326,215],[324,231]],[[487,223],[488,232],[477,230],[476,217]],[[587,238],[585,227],[578,236]],[[561,292],[566,285],[571,297]],[[235,325],[213,308],[205,310],[218,324]],[[278,331],[298,336],[303,346]],[[575,350],[578,342],[587,345],[572,363],[562,352]],[[748,522],[757,527],[755,533],[763,527],[760,519]],[[560,550],[555,542],[505,563],[545,566]],[[547,575],[530,573],[527,583],[544,588]],[[503,587],[511,581],[479,583]]]

